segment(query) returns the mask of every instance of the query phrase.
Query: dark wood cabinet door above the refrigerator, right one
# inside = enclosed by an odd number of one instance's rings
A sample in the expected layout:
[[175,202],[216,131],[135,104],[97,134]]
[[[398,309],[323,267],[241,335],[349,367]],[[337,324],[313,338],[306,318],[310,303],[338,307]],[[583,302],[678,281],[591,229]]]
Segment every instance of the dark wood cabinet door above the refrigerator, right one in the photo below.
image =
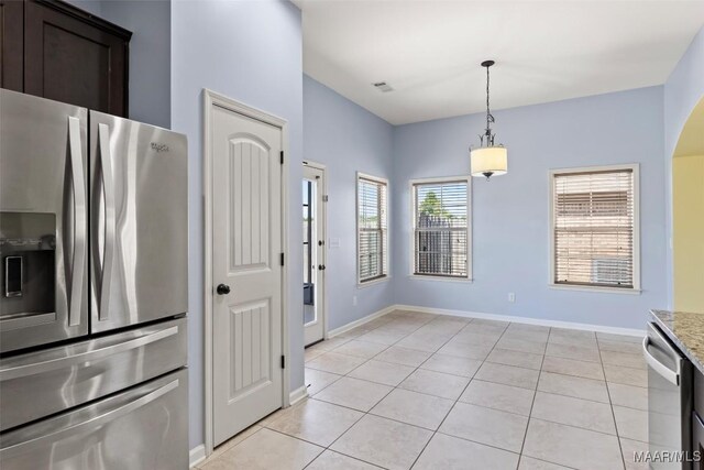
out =
[[127,116],[127,43],[40,2],[25,3],[24,91]]

